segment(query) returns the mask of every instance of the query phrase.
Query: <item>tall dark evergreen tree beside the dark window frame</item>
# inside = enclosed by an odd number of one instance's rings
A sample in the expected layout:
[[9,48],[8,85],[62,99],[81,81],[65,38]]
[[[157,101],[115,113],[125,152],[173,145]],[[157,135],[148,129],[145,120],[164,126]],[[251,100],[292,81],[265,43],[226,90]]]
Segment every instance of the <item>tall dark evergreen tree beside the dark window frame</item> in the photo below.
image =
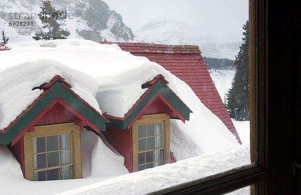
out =
[[227,110],[230,117],[236,120],[249,120],[249,22],[243,25],[243,43],[235,57],[235,76],[232,87],[228,90]]

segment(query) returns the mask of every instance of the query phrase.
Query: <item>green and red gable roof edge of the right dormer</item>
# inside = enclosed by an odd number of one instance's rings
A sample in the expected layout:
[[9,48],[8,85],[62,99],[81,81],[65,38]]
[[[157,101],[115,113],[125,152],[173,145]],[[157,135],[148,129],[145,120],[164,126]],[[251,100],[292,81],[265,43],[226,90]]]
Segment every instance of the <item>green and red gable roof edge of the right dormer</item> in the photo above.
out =
[[174,119],[181,119],[185,123],[185,120],[189,120],[192,111],[167,84],[168,81],[161,74],[157,75],[152,81],[143,84],[141,88],[148,89],[123,118],[103,114],[110,121],[107,126],[120,129],[130,128],[137,119],[142,117],[142,113],[156,98],[160,98],[170,108],[171,111],[168,111],[167,115]]

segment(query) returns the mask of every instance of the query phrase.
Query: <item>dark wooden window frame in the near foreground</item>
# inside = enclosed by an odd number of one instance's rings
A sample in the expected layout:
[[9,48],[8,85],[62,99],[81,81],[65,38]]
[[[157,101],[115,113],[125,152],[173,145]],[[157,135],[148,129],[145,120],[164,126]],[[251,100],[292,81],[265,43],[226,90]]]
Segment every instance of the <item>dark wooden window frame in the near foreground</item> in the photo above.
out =
[[[300,1],[250,0],[252,164],[154,194],[301,194]],[[281,12],[280,12],[281,11]]]

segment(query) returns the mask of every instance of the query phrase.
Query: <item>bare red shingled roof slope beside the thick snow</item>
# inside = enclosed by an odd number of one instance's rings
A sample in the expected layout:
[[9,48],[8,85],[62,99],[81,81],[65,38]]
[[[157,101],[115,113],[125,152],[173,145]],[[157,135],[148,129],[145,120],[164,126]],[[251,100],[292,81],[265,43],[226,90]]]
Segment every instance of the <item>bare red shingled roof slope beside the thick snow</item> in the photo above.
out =
[[[113,44],[112,42],[102,43]],[[115,44],[123,51],[130,52],[135,56],[144,56],[150,61],[160,64],[186,82],[200,98],[201,102],[223,121],[241,144],[240,138],[215,88],[198,46],[147,43]]]

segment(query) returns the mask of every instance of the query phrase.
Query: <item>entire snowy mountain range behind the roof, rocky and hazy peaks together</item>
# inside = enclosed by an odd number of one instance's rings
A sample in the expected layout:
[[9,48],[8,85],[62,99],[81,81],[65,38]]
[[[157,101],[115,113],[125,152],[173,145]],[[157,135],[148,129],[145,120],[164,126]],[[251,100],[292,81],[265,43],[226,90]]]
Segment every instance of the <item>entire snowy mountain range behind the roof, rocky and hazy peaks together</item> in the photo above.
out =
[[[235,59],[240,41],[217,40],[206,35],[206,29],[173,18],[156,18],[135,31],[127,27],[120,14],[110,10],[101,0],[52,0],[55,9],[66,15],[62,28],[70,32],[68,38],[84,38],[101,42],[147,42],[174,45],[198,45],[205,57]],[[1,0],[0,31],[4,30],[9,43],[32,41],[42,31],[38,14],[41,0]],[[26,26],[17,26],[26,22]]]

